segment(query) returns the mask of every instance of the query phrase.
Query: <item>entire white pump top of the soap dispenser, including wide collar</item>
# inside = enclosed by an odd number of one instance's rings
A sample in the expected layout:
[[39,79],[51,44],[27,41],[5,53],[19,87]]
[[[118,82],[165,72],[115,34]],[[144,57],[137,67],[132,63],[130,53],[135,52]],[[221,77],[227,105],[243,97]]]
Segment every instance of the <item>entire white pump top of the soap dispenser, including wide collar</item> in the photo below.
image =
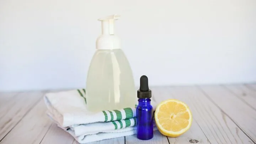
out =
[[97,49],[120,49],[119,37],[114,35],[114,21],[120,18],[120,15],[110,15],[98,19],[101,21],[102,34],[97,38]]

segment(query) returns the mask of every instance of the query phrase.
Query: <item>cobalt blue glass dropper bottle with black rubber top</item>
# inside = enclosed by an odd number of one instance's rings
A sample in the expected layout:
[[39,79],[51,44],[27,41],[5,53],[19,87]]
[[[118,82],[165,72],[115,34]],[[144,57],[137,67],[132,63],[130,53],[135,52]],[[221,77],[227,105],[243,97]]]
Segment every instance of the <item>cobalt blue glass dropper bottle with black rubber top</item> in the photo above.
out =
[[148,140],[153,138],[153,106],[150,104],[151,90],[148,87],[148,77],[140,77],[140,89],[137,91],[137,138]]

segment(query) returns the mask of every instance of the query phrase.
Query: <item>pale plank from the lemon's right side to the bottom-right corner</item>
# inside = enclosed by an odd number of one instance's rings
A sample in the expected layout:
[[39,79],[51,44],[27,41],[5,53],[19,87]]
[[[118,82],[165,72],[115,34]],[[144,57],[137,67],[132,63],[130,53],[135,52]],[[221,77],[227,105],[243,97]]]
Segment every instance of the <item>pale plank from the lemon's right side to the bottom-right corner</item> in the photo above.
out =
[[174,98],[185,102],[194,121],[212,144],[253,144],[242,130],[196,87],[170,87]]

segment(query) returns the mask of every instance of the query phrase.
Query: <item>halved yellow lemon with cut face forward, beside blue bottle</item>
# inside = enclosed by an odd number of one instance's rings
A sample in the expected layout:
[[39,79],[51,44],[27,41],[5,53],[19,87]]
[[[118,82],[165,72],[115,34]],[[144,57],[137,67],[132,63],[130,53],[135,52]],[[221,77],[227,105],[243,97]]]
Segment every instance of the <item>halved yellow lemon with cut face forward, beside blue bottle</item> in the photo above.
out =
[[192,114],[185,103],[169,99],[156,107],[155,122],[161,134],[178,137],[191,127]]

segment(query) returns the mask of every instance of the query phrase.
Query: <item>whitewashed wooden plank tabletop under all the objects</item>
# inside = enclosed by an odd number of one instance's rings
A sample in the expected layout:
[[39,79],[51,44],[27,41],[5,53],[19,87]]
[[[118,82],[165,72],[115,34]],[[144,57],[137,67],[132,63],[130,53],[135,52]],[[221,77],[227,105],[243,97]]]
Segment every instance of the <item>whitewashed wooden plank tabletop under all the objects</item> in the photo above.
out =
[[[256,84],[151,87],[157,102],[177,98],[190,107],[193,123],[177,138],[154,133],[151,140],[135,135],[93,144],[255,144]],[[76,144],[46,116],[47,91],[0,92],[0,144]],[[90,143],[92,144],[92,143]]]

